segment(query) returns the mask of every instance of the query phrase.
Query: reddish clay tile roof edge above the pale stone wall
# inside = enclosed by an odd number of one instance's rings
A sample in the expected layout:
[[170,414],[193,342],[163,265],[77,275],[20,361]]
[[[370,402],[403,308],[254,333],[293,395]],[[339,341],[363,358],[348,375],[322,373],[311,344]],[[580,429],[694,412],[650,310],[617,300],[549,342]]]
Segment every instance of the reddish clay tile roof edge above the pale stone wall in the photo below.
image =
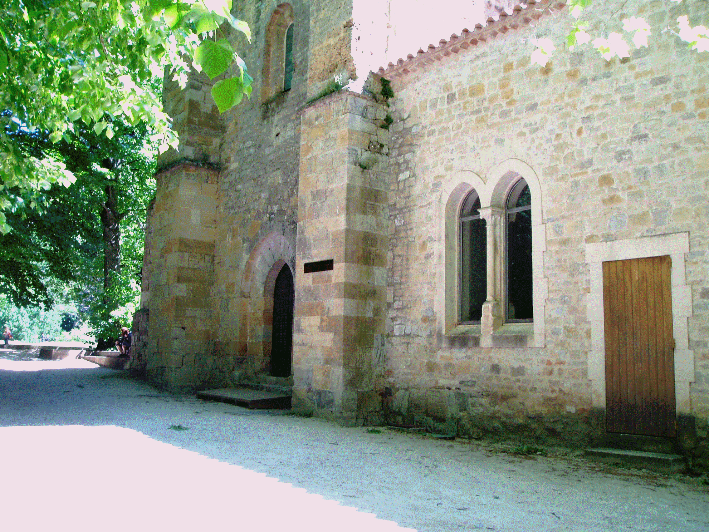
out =
[[[533,9],[537,4],[543,6],[543,9]],[[496,38],[497,35],[507,33],[510,29],[516,30],[520,26],[530,26],[532,21],[539,21],[545,13],[549,13],[552,4],[556,10],[566,7],[564,0],[527,0],[525,3],[515,5],[511,13],[502,11],[498,20],[489,17],[485,26],[477,23],[473,31],[465,28],[460,35],[454,33],[449,40],[441,39],[438,46],[430,44],[425,51],[420,49],[416,55],[409,54],[406,56],[406,60],[399,57],[396,65],[389,62],[386,69],[379,67],[376,74],[379,77],[397,78],[413,70],[423,70],[444,57],[476,46],[480,42],[485,43],[488,39]]]

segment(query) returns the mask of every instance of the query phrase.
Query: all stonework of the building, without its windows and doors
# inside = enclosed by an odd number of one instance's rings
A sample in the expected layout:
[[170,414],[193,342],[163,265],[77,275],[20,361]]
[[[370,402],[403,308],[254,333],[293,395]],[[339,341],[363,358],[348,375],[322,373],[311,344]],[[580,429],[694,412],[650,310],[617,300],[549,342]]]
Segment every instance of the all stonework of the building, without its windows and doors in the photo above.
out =
[[[622,31],[623,18],[645,16],[649,48],[610,62],[590,45],[559,49],[545,68],[530,65],[530,38],[561,43],[572,19],[530,4],[526,16],[476,30],[481,38],[467,49],[426,52],[423,70],[393,75],[408,62],[393,67],[391,107],[370,97],[376,77],[364,84],[367,96],[318,99],[335,75],[367,77],[352,58],[366,52],[352,43],[361,1],[291,3],[289,92],[261,87],[256,75],[254,97],[220,116],[216,80],[195,73],[182,91],[166,78],[166,110],[182,143],[160,157],[147,245],[150,381],[170,389],[271,382],[268,291],[287,265],[296,282],[294,376],[278,384],[293,384],[296,409],[586,445],[598,412],[584,246],[688,231],[696,365],[688,423],[696,426],[691,452],[709,456],[709,230],[701,222],[709,60],[662,32],[680,9],[693,25],[709,25],[708,2],[653,1],[627,13],[615,1],[594,4],[590,31]],[[507,6],[488,4],[486,12]],[[255,74],[278,6],[235,3],[252,44],[225,30]],[[379,127],[386,113],[389,129]],[[543,262],[549,290],[538,335],[545,348],[440,343],[434,251],[443,183],[460,169],[485,180],[509,159],[531,167],[541,185],[546,248],[535,264]],[[305,262],[323,259],[334,260],[332,271],[303,273]]]

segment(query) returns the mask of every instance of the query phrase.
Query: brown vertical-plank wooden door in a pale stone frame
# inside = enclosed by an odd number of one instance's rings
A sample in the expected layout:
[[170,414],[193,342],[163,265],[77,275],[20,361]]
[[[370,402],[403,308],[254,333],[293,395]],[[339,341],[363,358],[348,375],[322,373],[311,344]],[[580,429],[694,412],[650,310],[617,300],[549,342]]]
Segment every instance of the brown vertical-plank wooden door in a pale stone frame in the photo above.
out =
[[671,260],[603,262],[608,432],[676,436]]

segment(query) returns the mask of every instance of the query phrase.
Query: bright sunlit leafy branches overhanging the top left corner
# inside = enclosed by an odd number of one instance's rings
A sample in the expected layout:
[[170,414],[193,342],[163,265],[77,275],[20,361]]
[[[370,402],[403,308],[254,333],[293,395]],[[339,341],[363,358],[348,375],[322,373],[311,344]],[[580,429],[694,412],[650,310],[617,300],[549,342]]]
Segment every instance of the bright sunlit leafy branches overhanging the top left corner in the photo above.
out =
[[[252,78],[220,26],[250,40],[231,0],[5,0],[0,19],[0,232],[2,211],[43,209],[53,184],[74,174],[49,152],[28,155],[9,135],[23,129],[71,142],[84,126],[109,140],[116,120],[150,128],[162,152],[177,146],[160,90],[149,80],[167,70],[182,87],[190,67],[216,82],[220,112],[251,93]],[[221,38],[218,38],[218,36]]]

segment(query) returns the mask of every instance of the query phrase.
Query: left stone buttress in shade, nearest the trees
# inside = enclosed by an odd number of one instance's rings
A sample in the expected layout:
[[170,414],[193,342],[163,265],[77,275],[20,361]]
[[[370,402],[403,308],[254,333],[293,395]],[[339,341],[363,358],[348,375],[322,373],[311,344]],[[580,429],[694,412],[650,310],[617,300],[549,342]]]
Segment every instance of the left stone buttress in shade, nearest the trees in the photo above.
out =
[[150,243],[148,382],[194,389],[214,380],[212,301],[216,170],[179,164],[159,172]]

